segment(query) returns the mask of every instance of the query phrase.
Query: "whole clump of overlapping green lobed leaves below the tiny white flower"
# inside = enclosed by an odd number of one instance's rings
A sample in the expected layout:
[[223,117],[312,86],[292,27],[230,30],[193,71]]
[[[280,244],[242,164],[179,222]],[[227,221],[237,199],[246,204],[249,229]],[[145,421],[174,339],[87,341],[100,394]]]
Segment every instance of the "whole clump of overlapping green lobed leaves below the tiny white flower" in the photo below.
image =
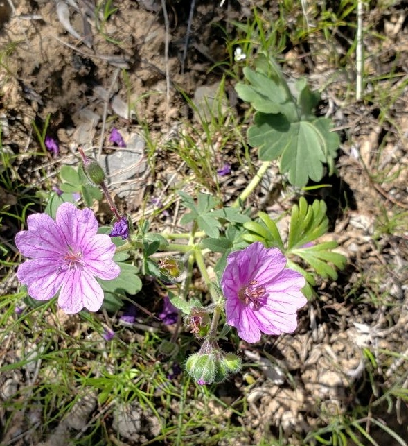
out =
[[309,179],[319,182],[325,163],[330,175],[334,173],[339,137],[330,132],[330,119],[313,115],[319,94],[310,91],[303,78],[290,88],[276,62],[264,54],[255,65],[255,71],[244,69],[248,84],[238,83],[236,91],[256,110],[247,137],[251,146],[259,148],[260,160],[281,157],[281,173],[299,187]]

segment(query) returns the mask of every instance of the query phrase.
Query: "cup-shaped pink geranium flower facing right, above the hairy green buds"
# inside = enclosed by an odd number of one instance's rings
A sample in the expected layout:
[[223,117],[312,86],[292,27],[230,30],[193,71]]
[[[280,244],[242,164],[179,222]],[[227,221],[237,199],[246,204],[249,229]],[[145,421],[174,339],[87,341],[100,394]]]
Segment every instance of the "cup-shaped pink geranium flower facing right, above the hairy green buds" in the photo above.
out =
[[307,302],[301,293],[305,279],[285,264],[280,250],[267,249],[260,242],[227,257],[221,279],[227,323],[236,327],[244,341],[259,341],[260,332],[281,334],[296,329],[296,310]]

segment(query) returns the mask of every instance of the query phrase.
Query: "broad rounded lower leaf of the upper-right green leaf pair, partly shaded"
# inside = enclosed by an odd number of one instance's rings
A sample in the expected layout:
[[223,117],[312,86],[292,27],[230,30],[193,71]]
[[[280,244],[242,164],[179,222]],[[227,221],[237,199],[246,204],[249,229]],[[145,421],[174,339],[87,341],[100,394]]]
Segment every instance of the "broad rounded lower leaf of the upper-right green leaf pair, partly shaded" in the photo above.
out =
[[290,122],[283,114],[257,112],[248,141],[258,147],[260,160],[281,157],[280,171],[287,173],[292,185],[303,187],[308,180],[323,178],[323,164],[334,170],[333,158],[339,146],[337,133],[330,132],[330,119]]

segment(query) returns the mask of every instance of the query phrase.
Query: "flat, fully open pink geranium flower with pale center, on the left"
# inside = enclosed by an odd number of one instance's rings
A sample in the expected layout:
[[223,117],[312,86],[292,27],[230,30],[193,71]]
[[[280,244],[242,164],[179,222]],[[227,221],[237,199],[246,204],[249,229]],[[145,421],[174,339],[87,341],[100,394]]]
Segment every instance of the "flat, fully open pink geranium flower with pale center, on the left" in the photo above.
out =
[[112,280],[121,270],[112,260],[115,246],[109,235],[96,234],[98,221],[91,209],[62,203],[55,221],[47,214],[33,214],[27,224],[28,230],[19,232],[15,243],[30,258],[17,270],[28,294],[48,300],[60,291],[58,304],[67,314],[83,307],[98,311],[103,289],[96,277]]

